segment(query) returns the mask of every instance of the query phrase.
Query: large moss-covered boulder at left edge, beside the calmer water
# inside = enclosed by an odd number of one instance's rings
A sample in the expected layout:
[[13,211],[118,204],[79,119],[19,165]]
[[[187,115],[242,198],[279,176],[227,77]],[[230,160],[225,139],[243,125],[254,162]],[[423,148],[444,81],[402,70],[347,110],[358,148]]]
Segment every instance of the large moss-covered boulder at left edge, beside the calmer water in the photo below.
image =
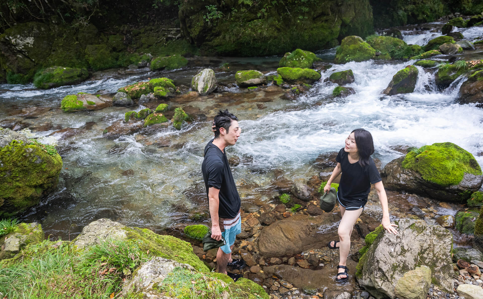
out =
[[57,187],[62,158],[53,147],[3,129],[0,137],[0,217],[24,212]]

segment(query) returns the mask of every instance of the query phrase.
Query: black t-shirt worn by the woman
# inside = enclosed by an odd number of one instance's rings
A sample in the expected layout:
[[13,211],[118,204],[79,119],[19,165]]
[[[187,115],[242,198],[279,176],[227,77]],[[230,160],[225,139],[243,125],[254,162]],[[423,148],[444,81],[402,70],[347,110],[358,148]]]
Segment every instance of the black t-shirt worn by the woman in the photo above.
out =
[[370,185],[381,182],[381,175],[377,170],[373,159],[369,159],[369,164],[362,167],[359,161],[349,163],[349,154],[341,148],[335,160],[341,163],[342,174],[341,183],[337,196],[342,199],[367,200]]

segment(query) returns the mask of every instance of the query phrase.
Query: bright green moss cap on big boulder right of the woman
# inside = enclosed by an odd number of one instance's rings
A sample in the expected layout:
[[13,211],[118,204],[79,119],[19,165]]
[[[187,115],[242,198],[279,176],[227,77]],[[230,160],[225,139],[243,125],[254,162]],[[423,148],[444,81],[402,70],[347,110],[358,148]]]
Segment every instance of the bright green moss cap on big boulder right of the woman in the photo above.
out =
[[473,155],[451,142],[426,145],[420,154],[409,152],[401,165],[441,186],[457,185],[465,172],[482,174]]

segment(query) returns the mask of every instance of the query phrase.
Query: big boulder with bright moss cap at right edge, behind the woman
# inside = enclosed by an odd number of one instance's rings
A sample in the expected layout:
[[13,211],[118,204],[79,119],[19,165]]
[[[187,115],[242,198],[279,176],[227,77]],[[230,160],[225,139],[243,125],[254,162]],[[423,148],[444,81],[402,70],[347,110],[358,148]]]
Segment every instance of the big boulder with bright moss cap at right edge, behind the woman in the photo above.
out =
[[410,151],[387,163],[381,176],[388,188],[456,202],[468,199],[483,182],[473,155],[451,142]]

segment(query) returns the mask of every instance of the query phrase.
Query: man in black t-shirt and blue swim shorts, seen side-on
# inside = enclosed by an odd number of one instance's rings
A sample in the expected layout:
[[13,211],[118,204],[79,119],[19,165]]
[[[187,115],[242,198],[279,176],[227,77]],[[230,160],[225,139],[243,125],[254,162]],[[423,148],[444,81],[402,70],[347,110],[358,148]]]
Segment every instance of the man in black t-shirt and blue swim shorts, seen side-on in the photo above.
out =
[[216,241],[223,237],[226,241],[226,245],[219,247],[216,254],[218,272],[228,274],[236,281],[241,275],[227,272],[227,266],[232,269],[242,269],[245,266],[243,260],[231,258],[235,237],[241,233],[241,201],[225,148],[234,145],[240,137],[238,118],[228,110],[220,110],[214,117],[213,131],[214,139],[206,144],[205,158],[201,165],[212,219],[211,237]]

